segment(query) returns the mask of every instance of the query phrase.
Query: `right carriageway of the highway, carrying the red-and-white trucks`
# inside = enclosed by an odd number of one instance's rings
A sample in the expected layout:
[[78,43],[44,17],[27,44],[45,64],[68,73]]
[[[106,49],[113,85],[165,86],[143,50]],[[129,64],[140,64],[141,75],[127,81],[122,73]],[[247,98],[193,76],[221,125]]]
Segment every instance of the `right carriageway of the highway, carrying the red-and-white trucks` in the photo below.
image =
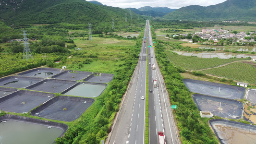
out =
[[[155,59],[150,25],[147,25],[148,45],[152,46],[148,49],[148,62],[151,62],[148,68],[148,88],[152,90],[149,93],[149,144],[158,144],[158,132],[164,132],[166,144],[180,144],[169,96]],[[156,66],[155,70],[152,70],[152,64]],[[157,80],[157,87],[153,87],[153,80]]]

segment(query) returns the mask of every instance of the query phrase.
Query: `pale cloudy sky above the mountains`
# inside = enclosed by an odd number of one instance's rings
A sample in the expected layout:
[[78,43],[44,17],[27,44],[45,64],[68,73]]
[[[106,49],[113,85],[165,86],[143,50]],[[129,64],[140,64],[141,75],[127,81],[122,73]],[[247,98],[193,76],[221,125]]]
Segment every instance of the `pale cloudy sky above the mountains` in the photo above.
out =
[[[88,0],[91,1],[91,0]],[[215,5],[226,0],[96,0],[104,5],[120,8],[141,8],[168,7],[170,9],[179,9],[189,5],[209,6]]]

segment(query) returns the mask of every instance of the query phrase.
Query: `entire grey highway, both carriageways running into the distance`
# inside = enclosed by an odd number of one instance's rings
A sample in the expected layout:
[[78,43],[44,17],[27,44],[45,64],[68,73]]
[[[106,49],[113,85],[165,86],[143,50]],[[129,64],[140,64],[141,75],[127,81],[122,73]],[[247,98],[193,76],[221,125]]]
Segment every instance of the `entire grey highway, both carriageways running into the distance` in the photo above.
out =
[[[145,106],[146,70],[148,69],[149,92],[149,144],[158,144],[158,132],[164,132],[166,144],[180,144],[176,126],[171,113],[169,96],[155,59],[149,21],[146,21],[139,60],[134,75],[122,100],[120,111],[114,122],[106,144],[144,144],[145,143]],[[145,42],[144,42],[145,40]],[[148,48],[148,55],[147,55]],[[148,57],[148,63],[146,58]],[[152,64],[156,69],[152,70]],[[157,87],[153,87],[157,80]],[[148,91],[149,91],[148,89]],[[144,96],[143,100],[141,97]],[[147,141],[147,140],[146,140]]]

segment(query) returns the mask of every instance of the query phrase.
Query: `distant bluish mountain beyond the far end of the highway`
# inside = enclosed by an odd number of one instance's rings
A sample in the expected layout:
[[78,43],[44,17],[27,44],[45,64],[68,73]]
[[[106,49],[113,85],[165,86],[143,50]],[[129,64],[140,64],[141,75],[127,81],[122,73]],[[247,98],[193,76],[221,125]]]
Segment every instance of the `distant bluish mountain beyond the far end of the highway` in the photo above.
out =
[[169,12],[173,12],[177,9],[169,9],[167,7],[150,7],[150,6],[145,6],[145,7],[141,7],[139,9],[135,9],[135,8],[127,8],[137,14],[140,14],[140,15],[150,15],[150,16],[153,16],[153,17],[162,17],[164,15],[166,15],[167,13]]

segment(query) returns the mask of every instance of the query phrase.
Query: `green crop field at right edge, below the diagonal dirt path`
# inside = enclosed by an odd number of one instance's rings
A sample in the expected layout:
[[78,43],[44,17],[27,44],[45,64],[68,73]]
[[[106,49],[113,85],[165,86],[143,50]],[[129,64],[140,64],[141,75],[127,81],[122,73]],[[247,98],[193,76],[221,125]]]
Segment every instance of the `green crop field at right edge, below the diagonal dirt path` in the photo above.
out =
[[208,69],[202,72],[244,83],[256,84],[256,68],[248,63],[235,62],[224,67]]

